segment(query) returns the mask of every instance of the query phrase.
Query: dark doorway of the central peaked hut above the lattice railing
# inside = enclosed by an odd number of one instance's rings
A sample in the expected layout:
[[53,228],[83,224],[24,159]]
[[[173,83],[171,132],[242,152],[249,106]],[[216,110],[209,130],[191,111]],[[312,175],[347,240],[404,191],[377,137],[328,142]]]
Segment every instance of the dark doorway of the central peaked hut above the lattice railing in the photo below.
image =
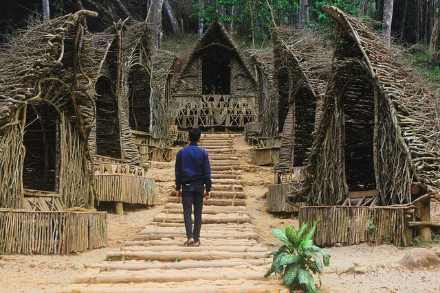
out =
[[214,47],[201,58],[202,94],[230,95],[231,57],[228,51]]

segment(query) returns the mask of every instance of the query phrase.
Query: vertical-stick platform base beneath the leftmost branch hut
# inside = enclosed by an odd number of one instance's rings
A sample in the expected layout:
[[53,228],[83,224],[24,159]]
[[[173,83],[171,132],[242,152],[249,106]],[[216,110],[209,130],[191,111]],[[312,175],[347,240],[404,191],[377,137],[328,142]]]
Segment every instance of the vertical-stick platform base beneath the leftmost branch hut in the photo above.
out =
[[0,254],[67,255],[107,246],[107,213],[0,209]]

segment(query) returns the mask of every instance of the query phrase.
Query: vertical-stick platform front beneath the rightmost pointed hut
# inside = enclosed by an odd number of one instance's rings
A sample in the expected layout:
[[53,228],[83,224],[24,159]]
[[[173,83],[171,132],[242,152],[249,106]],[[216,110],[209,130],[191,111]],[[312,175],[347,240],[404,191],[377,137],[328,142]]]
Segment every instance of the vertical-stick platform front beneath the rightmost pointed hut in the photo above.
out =
[[[321,220],[314,237],[318,246],[333,244],[394,244],[408,246],[405,209],[391,207],[300,207],[300,222]],[[409,234],[410,235],[410,234]]]

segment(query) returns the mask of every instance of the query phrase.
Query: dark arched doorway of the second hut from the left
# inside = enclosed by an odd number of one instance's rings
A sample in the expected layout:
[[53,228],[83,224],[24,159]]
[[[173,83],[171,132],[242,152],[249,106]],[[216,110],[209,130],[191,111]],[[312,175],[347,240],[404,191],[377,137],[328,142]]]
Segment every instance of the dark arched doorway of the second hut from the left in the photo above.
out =
[[96,94],[96,154],[121,159],[118,101],[108,78],[98,78]]

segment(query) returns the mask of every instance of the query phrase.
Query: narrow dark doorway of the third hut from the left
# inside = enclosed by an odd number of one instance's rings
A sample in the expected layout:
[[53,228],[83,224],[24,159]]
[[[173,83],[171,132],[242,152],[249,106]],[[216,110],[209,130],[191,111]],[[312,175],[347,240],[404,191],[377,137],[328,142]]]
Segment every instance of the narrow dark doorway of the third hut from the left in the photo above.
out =
[[150,74],[140,65],[131,68],[129,74],[130,128],[150,131]]

